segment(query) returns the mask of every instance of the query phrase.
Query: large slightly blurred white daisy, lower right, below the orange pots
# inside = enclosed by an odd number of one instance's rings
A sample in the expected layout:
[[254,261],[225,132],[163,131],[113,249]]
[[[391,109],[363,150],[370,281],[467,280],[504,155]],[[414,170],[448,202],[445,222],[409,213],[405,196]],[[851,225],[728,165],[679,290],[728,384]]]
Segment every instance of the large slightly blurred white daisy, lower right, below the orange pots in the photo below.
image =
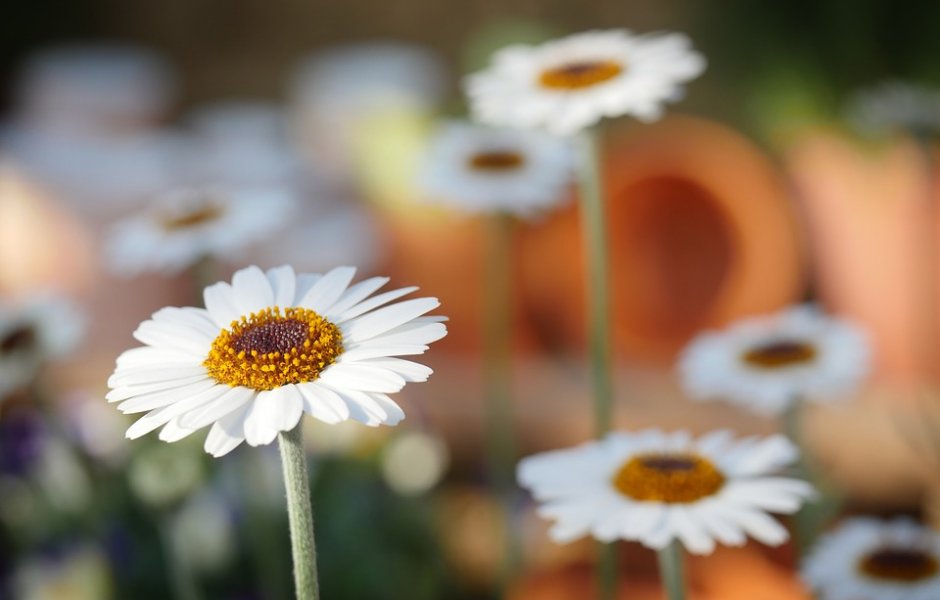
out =
[[794,513],[813,495],[806,482],[773,476],[797,458],[783,436],[735,441],[727,431],[693,440],[684,431],[612,433],[599,442],[523,459],[518,479],[555,521],[557,542],[583,535],[689,552],[741,546],[750,535],[770,545],[787,530],[767,513]]

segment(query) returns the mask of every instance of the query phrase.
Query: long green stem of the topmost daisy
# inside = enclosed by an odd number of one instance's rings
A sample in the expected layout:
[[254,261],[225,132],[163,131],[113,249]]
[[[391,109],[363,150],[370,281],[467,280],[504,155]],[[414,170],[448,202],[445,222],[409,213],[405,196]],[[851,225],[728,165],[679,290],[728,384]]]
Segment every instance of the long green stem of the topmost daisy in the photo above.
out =
[[[594,391],[594,429],[597,437],[602,438],[610,431],[613,412],[607,219],[594,132],[585,130],[576,142],[582,235],[587,259],[588,345]],[[604,544],[599,554],[599,597],[609,600],[617,592],[616,546]]]

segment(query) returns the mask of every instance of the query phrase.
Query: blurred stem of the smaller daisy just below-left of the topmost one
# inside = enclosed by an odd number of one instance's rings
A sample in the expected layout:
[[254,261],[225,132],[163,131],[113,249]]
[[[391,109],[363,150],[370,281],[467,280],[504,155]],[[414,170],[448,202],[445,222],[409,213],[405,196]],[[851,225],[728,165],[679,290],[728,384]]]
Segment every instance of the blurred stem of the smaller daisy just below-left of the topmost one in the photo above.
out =
[[509,215],[487,219],[483,284],[484,386],[487,467],[503,502],[506,540],[501,582],[505,588],[519,566],[521,550],[513,521],[516,451],[512,426],[512,232]]

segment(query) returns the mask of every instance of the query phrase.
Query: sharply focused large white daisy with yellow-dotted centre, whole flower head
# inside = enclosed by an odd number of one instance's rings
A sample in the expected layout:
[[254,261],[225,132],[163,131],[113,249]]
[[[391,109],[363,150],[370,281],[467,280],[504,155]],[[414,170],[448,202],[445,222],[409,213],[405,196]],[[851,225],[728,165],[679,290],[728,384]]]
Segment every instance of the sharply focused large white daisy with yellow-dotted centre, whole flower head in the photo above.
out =
[[206,309],[154,313],[134,332],[145,346],[118,357],[108,380],[118,409],[147,413],[127,437],[162,427],[160,439],[173,442],[212,425],[205,448],[221,456],[245,440],[271,443],[304,412],[327,423],[397,424],[405,415],[388,394],[431,374],[398,357],[446,335],[443,317],[423,316],[440,303],[388,305],[417,288],[372,296],[388,279],[350,285],[354,273],[248,267],[231,284],[207,287]]

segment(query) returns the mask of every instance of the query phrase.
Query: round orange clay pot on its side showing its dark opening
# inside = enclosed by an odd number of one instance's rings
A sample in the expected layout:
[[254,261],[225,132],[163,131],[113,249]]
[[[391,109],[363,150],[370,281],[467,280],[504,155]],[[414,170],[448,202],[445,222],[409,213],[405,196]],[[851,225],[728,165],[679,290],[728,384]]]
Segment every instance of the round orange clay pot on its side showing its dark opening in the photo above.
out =
[[[671,361],[696,332],[800,298],[804,265],[786,187],[750,142],[717,123],[672,117],[605,139],[614,343]],[[522,240],[531,318],[583,346],[584,260],[570,206]]]

